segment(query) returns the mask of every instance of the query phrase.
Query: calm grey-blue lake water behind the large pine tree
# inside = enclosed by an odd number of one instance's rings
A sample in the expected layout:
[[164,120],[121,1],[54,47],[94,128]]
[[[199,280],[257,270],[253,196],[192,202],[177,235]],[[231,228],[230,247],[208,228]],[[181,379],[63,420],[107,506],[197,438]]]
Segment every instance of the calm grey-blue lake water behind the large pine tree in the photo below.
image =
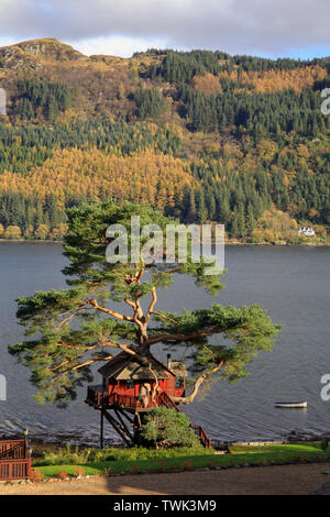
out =
[[[256,302],[274,322],[285,326],[274,350],[251,363],[249,377],[234,385],[213,384],[204,397],[185,407],[191,421],[202,425],[211,438],[280,439],[293,430],[330,431],[330,402],[320,398],[320,377],[330,373],[329,263],[329,248],[228,246],[226,289],[216,298],[184,277],[160,293],[157,307],[162,309]],[[84,403],[85,389],[68,409],[38,406],[32,398],[29,371],[7,351],[8,344],[23,337],[15,319],[15,298],[64,287],[64,264],[59,244],[0,242],[0,374],[7,377],[8,392],[7,402],[0,400],[0,435],[15,435],[28,427],[34,437],[98,439],[99,415]],[[183,351],[174,359],[182,359]],[[277,409],[275,399],[306,399],[308,408]],[[111,430],[107,432],[110,440],[117,440]]]

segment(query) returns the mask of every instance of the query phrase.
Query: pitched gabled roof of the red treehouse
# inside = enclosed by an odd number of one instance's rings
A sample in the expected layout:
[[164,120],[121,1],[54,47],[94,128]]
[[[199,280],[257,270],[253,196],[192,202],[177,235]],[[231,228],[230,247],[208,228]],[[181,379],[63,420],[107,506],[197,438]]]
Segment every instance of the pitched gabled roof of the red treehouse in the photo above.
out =
[[172,378],[174,376],[185,376],[186,367],[184,363],[173,362],[173,369],[169,370],[155,358],[150,356],[148,365],[143,364],[133,355],[125,352],[118,354],[107,364],[101,366],[98,372],[106,378],[114,378],[116,381],[154,381],[157,378]]

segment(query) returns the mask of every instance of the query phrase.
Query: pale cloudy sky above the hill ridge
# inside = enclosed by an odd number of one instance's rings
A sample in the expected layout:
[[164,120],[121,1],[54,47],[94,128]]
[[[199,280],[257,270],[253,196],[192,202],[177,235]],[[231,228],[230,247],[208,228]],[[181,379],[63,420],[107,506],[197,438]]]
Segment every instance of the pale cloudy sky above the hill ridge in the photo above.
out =
[[86,55],[147,48],[330,56],[330,0],[0,0],[0,46],[56,37]]

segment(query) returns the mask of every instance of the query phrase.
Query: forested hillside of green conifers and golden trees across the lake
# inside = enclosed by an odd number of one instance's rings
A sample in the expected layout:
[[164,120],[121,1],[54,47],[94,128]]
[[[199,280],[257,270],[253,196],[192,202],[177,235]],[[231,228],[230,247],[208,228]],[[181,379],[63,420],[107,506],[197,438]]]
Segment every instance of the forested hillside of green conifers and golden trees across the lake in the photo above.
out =
[[316,242],[330,226],[330,64],[151,50],[0,48],[0,237],[61,239],[65,208],[113,198],[231,239]]

